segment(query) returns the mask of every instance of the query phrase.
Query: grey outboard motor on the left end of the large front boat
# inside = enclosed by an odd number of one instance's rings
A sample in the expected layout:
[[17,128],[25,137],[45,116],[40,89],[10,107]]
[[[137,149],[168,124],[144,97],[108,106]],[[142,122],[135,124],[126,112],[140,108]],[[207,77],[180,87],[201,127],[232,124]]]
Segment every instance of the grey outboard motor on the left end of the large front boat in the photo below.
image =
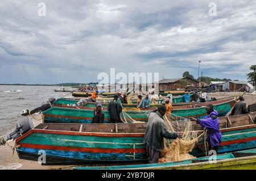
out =
[[0,145],[4,145],[6,141],[8,140],[15,140],[16,138],[22,136],[22,134],[27,133],[30,131],[30,129],[34,128],[34,124],[31,121],[30,117],[23,117],[22,119],[19,119],[16,124],[16,129],[15,131],[4,135],[0,139]]

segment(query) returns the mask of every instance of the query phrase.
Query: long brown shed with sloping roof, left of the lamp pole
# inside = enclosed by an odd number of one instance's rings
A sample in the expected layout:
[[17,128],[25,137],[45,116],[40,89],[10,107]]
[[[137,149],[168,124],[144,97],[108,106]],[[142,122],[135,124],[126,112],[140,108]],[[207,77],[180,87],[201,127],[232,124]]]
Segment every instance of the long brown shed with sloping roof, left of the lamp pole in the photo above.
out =
[[159,83],[159,91],[185,89],[188,86],[199,86],[199,82],[188,77],[162,79]]

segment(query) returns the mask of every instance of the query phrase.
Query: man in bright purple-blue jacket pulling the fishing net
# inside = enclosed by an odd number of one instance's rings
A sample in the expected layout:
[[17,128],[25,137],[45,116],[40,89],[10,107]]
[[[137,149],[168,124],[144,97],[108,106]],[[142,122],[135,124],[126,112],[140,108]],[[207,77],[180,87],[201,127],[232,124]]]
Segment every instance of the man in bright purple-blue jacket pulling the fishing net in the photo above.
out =
[[208,104],[205,108],[207,116],[204,119],[191,118],[191,121],[196,121],[202,127],[207,129],[207,138],[209,151],[215,150],[218,153],[218,146],[221,144],[220,125],[218,124],[218,112],[214,110],[212,104]]

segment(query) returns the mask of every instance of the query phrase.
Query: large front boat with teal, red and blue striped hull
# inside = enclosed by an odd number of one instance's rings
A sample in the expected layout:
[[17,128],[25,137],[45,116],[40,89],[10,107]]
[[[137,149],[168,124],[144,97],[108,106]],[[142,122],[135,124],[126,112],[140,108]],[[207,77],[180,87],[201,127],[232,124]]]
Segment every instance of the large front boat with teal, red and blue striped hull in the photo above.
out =
[[[219,153],[256,148],[255,113],[219,117],[222,142]],[[146,161],[143,143],[147,123],[39,124],[16,139],[20,159],[38,160],[46,153],[47,163]],[[203,128],[193,124],[193,130]],[[200,142],[192,155],[204,155]]]

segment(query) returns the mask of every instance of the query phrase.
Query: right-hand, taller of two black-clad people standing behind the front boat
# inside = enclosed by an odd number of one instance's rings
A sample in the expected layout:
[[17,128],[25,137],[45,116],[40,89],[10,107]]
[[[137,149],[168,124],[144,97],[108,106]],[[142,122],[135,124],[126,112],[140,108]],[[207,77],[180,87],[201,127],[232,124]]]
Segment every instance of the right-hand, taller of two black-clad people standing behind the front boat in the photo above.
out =
[[121,123],[120,113],[122,106],[118,103],[118,95],[114,95],[114,100],[110,101],[109,106],[110,123]]

